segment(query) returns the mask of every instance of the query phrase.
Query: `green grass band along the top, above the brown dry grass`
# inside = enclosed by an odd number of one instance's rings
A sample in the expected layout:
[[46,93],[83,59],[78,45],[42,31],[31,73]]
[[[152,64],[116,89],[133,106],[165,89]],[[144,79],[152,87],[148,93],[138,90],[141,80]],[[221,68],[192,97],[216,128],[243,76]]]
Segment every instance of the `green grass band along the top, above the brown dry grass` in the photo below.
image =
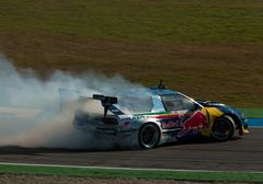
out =
[[105,39],[262,43],[255,0],[12,0],[0,2],[1,30]]

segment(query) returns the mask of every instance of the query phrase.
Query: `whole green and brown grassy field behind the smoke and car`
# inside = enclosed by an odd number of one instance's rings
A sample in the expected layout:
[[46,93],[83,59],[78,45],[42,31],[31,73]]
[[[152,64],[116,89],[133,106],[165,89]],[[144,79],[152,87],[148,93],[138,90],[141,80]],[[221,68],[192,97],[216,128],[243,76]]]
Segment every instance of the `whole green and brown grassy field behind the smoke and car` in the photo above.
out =
[[263,107],[261,0],[2,0],[0,53],[54,69]]

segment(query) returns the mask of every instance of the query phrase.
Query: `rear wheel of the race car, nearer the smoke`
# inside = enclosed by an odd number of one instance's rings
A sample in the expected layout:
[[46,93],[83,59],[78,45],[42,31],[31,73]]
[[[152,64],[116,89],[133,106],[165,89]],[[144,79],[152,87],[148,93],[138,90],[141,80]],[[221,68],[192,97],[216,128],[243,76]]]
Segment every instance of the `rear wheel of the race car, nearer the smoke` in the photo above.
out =
[[139,145],[141,149],[152,149],[160,141],[160,129],[155,124],[145,124],[139,130]]

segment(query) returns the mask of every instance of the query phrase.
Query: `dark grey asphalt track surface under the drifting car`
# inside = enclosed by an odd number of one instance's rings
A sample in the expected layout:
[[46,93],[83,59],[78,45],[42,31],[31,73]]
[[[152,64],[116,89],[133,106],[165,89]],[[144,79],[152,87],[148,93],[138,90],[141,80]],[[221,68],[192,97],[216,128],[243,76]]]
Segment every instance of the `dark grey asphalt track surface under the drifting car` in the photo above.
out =
[[225,142],[196,139],[152,150],[0,148],[0,162],[147,169],[263,171],[263,129]]

